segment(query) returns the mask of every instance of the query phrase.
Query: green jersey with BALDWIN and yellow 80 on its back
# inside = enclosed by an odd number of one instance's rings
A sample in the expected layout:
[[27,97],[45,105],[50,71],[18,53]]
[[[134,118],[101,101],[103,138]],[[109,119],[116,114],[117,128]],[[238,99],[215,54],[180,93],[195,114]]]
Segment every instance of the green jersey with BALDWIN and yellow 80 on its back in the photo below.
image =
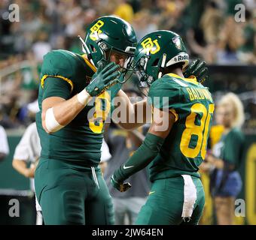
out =
[[151,85],[148,102],[175,115],[172,130],[149,166],[151,181],[182,174],[200,177],[198,166],[206,157],[215,107],[209,90],[195,78],[166,74]]

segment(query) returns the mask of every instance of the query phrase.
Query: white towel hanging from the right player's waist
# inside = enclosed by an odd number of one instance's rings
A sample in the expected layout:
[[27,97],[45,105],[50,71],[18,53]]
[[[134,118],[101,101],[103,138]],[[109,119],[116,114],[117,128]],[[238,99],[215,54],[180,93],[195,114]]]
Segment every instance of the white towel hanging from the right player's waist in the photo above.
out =
[[184,202],[181,217],[191,217],[197,200],[197,188],[190,175],[182,175],[184,179]]

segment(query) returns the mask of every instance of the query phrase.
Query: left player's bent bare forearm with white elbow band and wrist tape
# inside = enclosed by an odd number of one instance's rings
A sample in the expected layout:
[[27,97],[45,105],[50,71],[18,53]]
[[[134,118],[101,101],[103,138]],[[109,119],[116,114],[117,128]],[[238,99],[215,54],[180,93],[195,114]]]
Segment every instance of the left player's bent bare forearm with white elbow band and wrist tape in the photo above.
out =
[[47,133],[55,132],[69,124],[84,109],[92,97],[86,92],[69,100],[47,98],[43,101],[42,124]]

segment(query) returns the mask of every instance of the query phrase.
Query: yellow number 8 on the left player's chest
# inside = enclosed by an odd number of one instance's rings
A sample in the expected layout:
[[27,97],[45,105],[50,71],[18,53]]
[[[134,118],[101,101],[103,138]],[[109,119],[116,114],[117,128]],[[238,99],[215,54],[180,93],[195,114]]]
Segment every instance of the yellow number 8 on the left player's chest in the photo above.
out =
[[[108,92],[103,92],[95,99],[95,112],[93,117],[89,119],[89,127],[93,133],[102,133],[104,121],[108,118],[108,113],[111,110],[110,95]],[[105,110],[102,109],[105,102]]]

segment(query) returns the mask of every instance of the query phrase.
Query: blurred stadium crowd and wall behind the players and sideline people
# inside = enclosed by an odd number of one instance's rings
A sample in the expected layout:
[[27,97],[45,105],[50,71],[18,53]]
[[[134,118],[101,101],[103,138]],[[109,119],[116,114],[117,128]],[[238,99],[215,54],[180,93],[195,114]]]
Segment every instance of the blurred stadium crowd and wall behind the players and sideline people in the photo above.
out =
[[[19,6],[19,22],[8,19],[9,6]],[[245,7],[239,16],[237,6]],[[10,153],[0,163],[0,224],[31,224],[29,179],[11,166],[14,148],[34,121],[28,104],[36,101],[43,55],[50,49],[81,53],[78,35],[97,17],[114,14],[133,25],[138,40],[150,31],[177,31],[190,58],[209,65],[209,86],[215,101],[234,92],[245,108],[245,151],[239,171],[245,217],[236,224],[256,224],[256,1],[254,0],[1,0],[0,1],[0,124],[8,134]],[[245,17],[236,19],[236,17]],[[128,84],[133,87],[133,81]],[[134,86],[135,87],[135,86]],[[217,129],[216,132],[214,130]],[[212,128],[212,143],[218,127]],[[1,144],[1,142],[0,142]],[[215,214],[206,187],[202,224],[214,224]],[[20,217],[9,217],[9,199],[20,200]]]

